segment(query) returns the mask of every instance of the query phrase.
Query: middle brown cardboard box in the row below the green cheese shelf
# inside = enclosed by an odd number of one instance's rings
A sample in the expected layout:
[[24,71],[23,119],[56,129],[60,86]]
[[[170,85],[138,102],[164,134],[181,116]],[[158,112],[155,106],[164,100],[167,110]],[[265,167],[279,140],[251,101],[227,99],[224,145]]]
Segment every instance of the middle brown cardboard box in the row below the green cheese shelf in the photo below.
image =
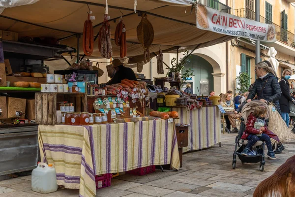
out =
[[[26,113],[26,100],[27,99],[19,99],[19,98],[7,98],[7,117],[8,118],[16,118],[16,112]],[[22,115],[20,119],[24,119],[25,115]]]

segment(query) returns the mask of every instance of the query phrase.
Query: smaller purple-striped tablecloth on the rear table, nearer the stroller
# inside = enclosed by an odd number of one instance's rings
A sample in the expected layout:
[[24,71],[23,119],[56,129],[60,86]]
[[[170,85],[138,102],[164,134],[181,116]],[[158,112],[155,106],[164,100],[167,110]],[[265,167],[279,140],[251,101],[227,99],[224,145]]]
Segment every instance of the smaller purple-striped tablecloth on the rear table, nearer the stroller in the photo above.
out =
[[220,111],[217,106],[202,107],[196,110],[173,108],[180,119],[177,123],[190,124],[188,132],[188,146],[183,152],[208,148],[221,142]]

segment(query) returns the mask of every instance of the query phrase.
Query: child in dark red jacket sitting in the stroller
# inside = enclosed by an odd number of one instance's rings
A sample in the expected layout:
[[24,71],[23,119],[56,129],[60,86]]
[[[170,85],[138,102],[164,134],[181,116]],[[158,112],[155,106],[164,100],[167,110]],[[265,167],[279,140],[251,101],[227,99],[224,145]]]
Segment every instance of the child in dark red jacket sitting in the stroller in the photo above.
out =
[[276,134],[269,131],[266,126],[267,109],[264,106],[258,106],[255,108],[254,112],[250,113],[247,118],[246,130],[243,132],[241,139],[248,140],[247,146],[244,148],[242,155],[248,156],[252,146],[258,141],[266,141],[266,146],[268,149],[267,156],[271,160],[275,160],[275,154],[272,150],[272,145],[270,137],[276,141],[279,141],[279,138]]

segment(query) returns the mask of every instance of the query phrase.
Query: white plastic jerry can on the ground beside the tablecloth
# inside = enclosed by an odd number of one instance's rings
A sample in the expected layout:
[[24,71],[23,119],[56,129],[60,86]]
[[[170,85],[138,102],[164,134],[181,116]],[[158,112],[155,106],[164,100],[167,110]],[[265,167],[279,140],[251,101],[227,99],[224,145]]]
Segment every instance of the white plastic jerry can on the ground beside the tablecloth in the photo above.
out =
[[39,163],[32,171],[32,190],[47,194],[58,190],[57,175],[52,164]]

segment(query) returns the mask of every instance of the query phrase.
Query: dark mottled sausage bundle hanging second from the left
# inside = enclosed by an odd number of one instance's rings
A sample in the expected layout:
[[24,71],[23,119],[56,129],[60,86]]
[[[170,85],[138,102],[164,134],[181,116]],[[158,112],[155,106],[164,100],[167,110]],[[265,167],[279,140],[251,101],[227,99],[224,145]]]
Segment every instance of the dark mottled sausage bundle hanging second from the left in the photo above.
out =
[[112,58],[113,49],[111,43],[111,27],[107,19],[107,15],[105,15],[103,24],[99,30],[98,49],[101,54],[101,57],[106,59]]

